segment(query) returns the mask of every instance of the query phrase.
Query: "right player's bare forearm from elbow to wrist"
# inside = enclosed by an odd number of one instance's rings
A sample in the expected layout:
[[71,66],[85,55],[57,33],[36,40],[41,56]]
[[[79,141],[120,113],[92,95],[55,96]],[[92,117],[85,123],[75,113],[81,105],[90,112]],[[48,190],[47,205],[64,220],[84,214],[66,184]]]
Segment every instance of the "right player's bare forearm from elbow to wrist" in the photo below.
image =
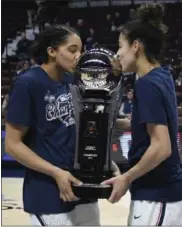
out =
[[160,146],[150,146],[141,160],[124,174],[128,178],[128,181],[132,183],[137,178],[156,168],[161,162],[169,157],[170,152],[161,152],[161,150],[163,150],[163,148]]

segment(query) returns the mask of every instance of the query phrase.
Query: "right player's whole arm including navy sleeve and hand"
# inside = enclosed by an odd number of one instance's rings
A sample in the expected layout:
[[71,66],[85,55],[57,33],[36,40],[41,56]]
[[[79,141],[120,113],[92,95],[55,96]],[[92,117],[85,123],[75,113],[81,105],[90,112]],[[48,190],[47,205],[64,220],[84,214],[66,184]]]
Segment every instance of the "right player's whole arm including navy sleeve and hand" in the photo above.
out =
[[134,180],[155,169],[172,152],[164,100],[160,90],[152,82],[141,80],[136,87],[136,94],[139,124],[145,124],[150,144],[140,161],[130,170],[104,182],[113,185],[109,198],[111,203],[119,201]]

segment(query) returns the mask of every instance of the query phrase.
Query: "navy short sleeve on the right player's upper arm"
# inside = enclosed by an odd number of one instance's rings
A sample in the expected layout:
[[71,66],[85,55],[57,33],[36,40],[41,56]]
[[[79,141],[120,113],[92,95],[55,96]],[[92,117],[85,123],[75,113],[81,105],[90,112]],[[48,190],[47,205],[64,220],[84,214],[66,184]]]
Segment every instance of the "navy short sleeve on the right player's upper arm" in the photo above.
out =
[[154,83],[146,79],[138,81],[136,97],[140,123],[167,125],[164,99]]

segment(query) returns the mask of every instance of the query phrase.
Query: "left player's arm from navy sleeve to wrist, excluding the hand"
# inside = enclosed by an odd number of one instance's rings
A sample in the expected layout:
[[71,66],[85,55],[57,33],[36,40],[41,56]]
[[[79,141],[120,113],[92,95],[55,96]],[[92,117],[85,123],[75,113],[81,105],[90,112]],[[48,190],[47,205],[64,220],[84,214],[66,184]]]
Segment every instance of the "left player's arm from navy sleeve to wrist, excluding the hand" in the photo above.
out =
[[5,149],[9,155],[26,167],[54,176],[58,168],[40,158],[23,143],[23,138],[34,121],[31,84],[28,77],[20,77],[9,96]]

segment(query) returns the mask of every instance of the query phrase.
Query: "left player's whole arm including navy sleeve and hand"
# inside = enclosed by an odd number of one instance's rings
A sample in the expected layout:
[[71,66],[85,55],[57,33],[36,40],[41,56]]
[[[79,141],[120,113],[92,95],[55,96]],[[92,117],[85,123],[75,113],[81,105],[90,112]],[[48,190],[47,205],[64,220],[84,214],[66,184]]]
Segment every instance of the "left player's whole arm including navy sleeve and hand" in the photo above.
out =
[[5,148],[18,162],[35,171],[53,177],[64,201],[75,200],[71,184],[81,182],[68,171],[60,169],[39,157],[23,143],[28,128],[34,125],[33,88],[31,77],[21,76],[15,83],[9,99]]

